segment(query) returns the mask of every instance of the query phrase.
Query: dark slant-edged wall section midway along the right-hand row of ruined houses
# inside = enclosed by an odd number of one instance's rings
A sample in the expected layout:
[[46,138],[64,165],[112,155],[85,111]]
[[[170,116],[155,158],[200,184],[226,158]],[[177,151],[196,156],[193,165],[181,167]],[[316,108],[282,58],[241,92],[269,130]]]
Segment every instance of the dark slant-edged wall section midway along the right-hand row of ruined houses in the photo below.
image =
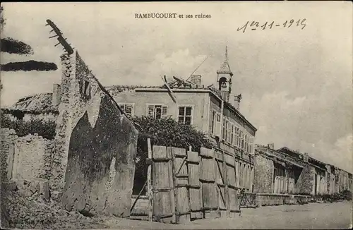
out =
[[295,193],[302,195],[313,194],[315,168],[306,164],[301,170],[297,183],[294,185]]

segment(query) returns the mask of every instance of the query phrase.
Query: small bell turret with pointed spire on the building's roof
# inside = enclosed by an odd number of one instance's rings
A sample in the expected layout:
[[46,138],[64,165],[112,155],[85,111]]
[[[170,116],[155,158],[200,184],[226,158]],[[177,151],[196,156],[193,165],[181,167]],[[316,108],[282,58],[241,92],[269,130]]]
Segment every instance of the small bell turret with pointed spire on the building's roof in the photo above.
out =
[[228,47],[225,47],[225,61],[223,61],[220,69],[217,71],[217,90],[220,90],[222,99],[229,101],[229,95],[232,92],[232,76],[228,63]]

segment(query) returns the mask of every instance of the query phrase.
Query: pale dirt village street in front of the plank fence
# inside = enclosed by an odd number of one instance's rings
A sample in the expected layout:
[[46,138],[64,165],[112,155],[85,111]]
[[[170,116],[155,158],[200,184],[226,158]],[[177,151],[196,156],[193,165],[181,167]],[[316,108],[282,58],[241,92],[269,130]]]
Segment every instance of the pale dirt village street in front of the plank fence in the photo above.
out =
[[351,223],[350,201],[242,209],[241,217],[201,219],[178,225],[128,219],[105,222],[113,229],[348,229]]

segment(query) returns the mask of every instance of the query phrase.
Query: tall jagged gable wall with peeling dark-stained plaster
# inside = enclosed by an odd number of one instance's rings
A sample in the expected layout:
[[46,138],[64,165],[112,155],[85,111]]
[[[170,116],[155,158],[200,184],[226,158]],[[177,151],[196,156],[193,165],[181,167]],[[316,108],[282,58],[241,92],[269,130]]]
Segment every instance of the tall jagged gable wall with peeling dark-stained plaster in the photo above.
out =
[[51,187],[83,214],[129,215],[138,131],[74,52],[63,75]]

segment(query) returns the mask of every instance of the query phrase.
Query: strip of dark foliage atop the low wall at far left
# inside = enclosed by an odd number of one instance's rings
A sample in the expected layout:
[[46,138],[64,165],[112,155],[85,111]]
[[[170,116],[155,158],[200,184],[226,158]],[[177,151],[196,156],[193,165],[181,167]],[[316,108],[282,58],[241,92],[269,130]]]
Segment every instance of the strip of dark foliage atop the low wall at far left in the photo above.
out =
[[35,134],[47,138],[49,140],[55,137],[55,121],[43,121],[40,119],[34,119],[30,121],[14,120],[1,114],[1,128],[10,128],[16,131],[16,134],[23,137],[28,134]]

